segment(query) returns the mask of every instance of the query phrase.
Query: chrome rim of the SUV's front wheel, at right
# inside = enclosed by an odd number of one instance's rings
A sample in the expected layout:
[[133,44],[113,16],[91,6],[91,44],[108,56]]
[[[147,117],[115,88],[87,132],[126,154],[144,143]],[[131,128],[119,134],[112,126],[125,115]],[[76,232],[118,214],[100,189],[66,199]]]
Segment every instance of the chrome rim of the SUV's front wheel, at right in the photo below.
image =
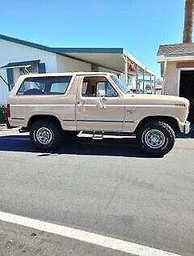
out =
[[146,145],[150,148],[162,147],[165,143],[165,136],[161,130],[149,130],[145,135]]

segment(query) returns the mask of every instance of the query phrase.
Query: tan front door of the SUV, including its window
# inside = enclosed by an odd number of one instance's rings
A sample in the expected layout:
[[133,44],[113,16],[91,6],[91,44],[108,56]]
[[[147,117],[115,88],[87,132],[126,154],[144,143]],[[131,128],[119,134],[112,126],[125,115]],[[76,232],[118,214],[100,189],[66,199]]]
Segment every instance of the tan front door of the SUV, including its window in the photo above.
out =
[[[106,76],[81,76],[76,102],[77,130],[122,131],[124,100]],[[99,90],[105,96],[99,97]]]

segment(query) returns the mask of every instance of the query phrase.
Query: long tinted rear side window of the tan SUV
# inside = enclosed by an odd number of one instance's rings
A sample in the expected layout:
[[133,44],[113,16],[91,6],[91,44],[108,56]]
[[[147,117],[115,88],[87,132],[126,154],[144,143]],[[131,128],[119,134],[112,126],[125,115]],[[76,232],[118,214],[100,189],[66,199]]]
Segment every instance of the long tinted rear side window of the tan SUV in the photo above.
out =
[[65,94],[72,76],[30,77],[19,87],[18,95]]

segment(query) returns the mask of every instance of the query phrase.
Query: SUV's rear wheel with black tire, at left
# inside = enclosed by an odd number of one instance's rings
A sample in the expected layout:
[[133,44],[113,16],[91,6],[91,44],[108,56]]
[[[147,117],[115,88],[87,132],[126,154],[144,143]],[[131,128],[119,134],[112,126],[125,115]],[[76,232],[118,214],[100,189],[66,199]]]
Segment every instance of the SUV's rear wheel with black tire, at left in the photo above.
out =
[[[38,139],[41,128],[42,130],[46,130],[46,133],[48,133],[48,143],[40,143],[40,139]],[[61,147],[63,141],[63,133],[61,127],[48,120],[38,120],[34,122],[30,128],[30,137],[32,143],[34,143],[34,145],[42,151],[56,150]]]

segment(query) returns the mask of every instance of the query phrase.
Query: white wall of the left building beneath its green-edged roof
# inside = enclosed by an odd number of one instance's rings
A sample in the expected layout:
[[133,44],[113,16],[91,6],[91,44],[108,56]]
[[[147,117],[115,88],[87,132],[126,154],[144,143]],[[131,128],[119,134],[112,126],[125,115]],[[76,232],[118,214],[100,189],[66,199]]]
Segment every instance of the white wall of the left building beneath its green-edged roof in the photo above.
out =
[[[23,62],[40,59],[45,63],[46,72],[72,72],[72,71],[91,71],[91,63],[78,61],[73,58],[61,56],[57,53],[49,53],[41,49],[30,46],[19,45],[10,41],[0,40],[0,66],[9,62]],[[99,71],[117,72],[99,67]],[[0,75],[7,81],[6,70],[0,70]],[[14,80],[19,77],[19,68],[14,69]],[[6,104],[9,92],[6,84],[0,79],[0,105]]]

